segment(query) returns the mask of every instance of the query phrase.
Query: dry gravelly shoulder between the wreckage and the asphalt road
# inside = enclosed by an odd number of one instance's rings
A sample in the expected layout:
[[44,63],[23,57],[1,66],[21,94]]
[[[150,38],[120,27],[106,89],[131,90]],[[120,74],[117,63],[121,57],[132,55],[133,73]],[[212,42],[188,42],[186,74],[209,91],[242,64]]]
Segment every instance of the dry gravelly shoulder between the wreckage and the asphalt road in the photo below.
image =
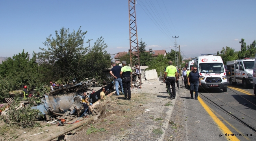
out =
[[[104,116],[82,127],[80,132],[69,137],[69,141],[156,141],[162,139],[164,130],[167,130],[164,140],[182,140],[184,138],[180,136],[182,132],[179,130],[183,129],[183,125],[176,124],[176,120],[180,120],[179,117],[170,119],[167,114],[170,108],[173,108],[174,101],[167,99],[168,96],[165,83],[150,81],[144,83],[142,89],[132,89],[131,101],[123,100],[123,95],[111,97],[108,99]],[[146,112],[147,110],[149,111]],[[165,128],[165,123],[168,124],[167,119],[176,124],[172,124],[174,130]],[[97,129],[104,128],[106,131],[87,135],[91,125]]]

